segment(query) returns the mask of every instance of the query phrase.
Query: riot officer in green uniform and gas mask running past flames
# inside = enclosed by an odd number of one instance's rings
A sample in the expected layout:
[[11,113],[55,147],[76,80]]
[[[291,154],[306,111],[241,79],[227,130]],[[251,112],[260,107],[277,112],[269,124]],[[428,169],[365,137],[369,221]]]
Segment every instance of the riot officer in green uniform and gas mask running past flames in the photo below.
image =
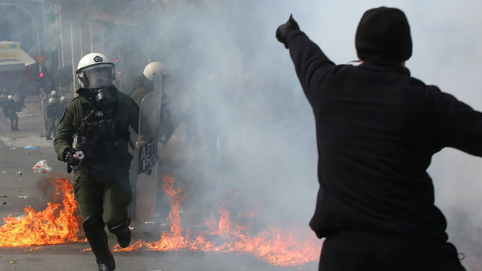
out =
[[[138,133],[139,108],[115,88],[115,65],[105,55],[85,55],[76,74],[79,96],[67,105],[53,145],[58,159],[67,162],[67,171],[74,169],[75,199],[98,270],[115,270],[104,228],[116,235],[119,246],[129,246],[129,126]],[[72,147],[74,137],[77,144]],[[79,151],[84,159],[79,159]]]

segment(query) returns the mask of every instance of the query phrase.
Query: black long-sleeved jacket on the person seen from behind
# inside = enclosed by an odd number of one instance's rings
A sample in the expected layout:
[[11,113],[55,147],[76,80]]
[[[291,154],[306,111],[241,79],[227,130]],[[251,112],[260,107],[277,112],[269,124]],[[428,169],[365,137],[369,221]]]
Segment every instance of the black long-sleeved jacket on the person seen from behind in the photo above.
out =
[[334,65],[298,30],[287,42],[315,115],[318,237],[367,230],[445,242],[426,169],[443,147],[482,156],[481,112],[400,64]]

